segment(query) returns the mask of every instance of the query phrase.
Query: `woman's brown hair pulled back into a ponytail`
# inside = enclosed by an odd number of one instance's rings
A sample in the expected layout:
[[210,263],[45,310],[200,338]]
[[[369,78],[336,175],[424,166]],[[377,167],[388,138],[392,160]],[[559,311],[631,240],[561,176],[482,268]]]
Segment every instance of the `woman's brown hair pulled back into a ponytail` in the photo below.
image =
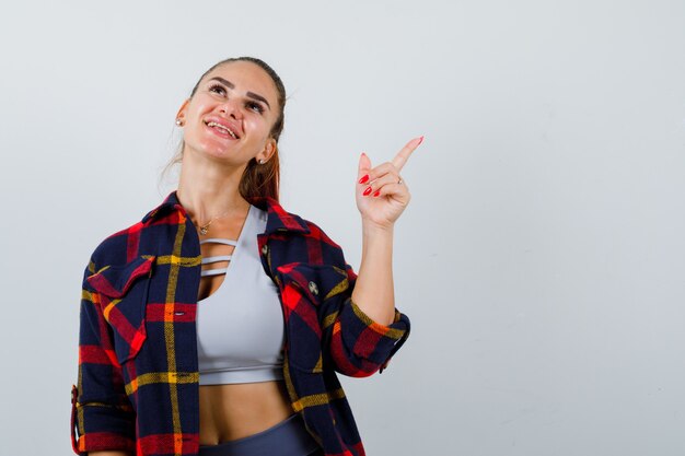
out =
[[[262,68],[274,81],[274,85],[276,85],[276,91],[278,92],[278,117],[274,127],[271,127],[270,137],[276,140],[276,151],[274,155],[269,159],[268,162],[260,165],[257,163],[255,159],[252,159],[245,171],[243,172],[243,176],[241,177],[241,182],[239,185],[239,191],[243,198],[249,200],[254,197],[269,197],[278,200],[278,190],[279,190],[279,182],[280,182],[280,160],[278,156],[278,139],[280,138],[281,132],[283,131],[283,122],[285,122],[285,108],[286,108],[286,87],[280,77],[274,71],[271,67],[269,67],[265,61],[257,59],[255,57],[234,57],[225,60],[221,60],[220,62],[213,65],[209,70],[205,71],[205,73],[197,81],[193,91],[190,92],[190,98],[197,92],[197,89],[205,79],[207,74],[209,74],[213,69],[219,66],[231,63],[234,61],[248,61],[255,63],[259,68]],[[166,172],[176,163],[181,163],[183,160],[183,150],[185,148],[185,141],[181,140],[181,144],[178,144],[178,150],[172,157],[172,160],[164,166],[162,175],[166,174]]]

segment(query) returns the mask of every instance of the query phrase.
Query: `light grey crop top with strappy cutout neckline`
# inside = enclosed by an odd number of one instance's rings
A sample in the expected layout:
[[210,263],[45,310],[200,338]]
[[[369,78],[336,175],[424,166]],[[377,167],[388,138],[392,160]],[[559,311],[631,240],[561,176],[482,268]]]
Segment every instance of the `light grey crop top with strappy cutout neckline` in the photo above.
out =
[[232,255],[202,258],[202,264],[230,260],[221,285],[197,304],[200,385],[282,379],[285,323],[276,285],[264,272],[257,234],[266,229],[266,212],[249,207],[237,241],[208,238],[233,245]]

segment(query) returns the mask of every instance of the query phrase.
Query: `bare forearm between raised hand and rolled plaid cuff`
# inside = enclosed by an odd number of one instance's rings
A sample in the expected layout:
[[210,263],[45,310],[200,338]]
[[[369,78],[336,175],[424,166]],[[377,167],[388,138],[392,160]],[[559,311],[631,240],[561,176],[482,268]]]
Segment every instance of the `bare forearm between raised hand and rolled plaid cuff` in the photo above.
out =
[[393,323],[393,225],[380,227],[362,221],[361,265],[352,301],[374,321],[382,325]]

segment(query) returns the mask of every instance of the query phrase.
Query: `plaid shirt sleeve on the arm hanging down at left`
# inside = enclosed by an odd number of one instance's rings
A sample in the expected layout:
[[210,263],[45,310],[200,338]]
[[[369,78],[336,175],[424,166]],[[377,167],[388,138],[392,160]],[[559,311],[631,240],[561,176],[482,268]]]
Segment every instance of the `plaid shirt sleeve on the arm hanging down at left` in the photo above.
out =
[[79,372],[71,389],[72,447],[79,455],[105,449],[135,453],[136,413],[124,388],[112,328],[97,292],[86,281],[94,272],[91,260],[81,290]]

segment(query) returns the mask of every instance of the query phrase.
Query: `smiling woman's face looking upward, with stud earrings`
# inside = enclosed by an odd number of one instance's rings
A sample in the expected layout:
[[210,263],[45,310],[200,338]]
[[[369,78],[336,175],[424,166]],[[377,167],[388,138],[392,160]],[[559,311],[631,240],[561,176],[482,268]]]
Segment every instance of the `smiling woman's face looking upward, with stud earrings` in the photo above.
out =
[[186,152],[245,165],[268,161],[276,148],[270,138],[280,106],[271,78],[257,65],[233,61],[214,68],[178,110]]

